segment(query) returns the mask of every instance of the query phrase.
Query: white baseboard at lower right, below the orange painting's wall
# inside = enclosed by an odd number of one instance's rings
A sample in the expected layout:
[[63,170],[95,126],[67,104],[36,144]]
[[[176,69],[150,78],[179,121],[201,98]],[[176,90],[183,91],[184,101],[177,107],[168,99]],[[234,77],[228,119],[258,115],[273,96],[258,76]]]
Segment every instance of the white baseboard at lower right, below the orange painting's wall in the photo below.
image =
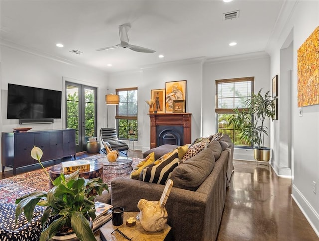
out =
[[295,185],[293,185],[291,196],[319,238],[319,214]]

